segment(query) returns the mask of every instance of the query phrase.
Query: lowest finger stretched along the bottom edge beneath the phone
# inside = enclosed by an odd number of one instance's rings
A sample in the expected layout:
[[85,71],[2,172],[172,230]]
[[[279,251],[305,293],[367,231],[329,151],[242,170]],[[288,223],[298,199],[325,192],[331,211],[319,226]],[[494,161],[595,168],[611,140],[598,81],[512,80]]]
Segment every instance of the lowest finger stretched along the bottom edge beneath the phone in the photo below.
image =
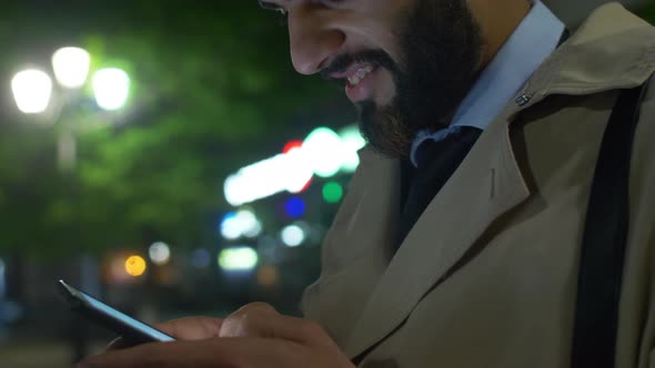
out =
[[[78,368],[306,367],[296,344],[262,338],[214,338],[141,345],[88,358]],[[299,362],[303,362],[299,365]]]

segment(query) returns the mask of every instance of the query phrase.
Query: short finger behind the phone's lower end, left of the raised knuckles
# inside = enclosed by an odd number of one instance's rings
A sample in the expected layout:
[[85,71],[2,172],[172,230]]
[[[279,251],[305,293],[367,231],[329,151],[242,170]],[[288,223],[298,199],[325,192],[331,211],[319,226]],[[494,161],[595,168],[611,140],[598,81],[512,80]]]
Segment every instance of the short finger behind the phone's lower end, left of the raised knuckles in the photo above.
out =
[[154,324],[152,327],[179,340],[202,340],[218,337],[222,323],[222,319],[212,317],[185,317]]

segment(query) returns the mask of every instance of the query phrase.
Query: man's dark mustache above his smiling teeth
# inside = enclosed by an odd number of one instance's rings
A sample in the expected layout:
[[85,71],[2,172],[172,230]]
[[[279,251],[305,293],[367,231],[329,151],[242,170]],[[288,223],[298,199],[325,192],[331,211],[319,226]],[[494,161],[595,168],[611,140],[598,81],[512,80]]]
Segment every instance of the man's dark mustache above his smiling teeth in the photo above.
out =
[[323,68],[319,74],[321,78],[345,86],[346,78],[333,78],[333,74],[345,72],[354,63],[371,63],[389,70],[392,74],[400,74],[400,67],[384,50],[365,50],[356,53],[341,54],[334,58],[330,65]]

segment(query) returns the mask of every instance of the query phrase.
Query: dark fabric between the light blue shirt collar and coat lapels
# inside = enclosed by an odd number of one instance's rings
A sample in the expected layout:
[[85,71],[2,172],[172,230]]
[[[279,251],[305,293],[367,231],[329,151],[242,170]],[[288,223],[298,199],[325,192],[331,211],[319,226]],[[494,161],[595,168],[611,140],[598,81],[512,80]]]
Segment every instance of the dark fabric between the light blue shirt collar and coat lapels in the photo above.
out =
[[436,193],[460,167],[481,133],[482,130],[473,126],[457,127],[440,141],[423,142],[416,150],[416,168],[411,163],[405,163],[403,193],[406,194],[401,211],[397,246],[405,239]]

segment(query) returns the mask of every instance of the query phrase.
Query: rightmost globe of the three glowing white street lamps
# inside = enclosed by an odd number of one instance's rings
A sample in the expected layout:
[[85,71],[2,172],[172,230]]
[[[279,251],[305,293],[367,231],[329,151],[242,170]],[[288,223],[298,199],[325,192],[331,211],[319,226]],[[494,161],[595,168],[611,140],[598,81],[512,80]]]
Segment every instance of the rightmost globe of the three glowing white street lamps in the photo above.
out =
[[117,68],[101,69],[93,74],[95,102],[104,110],[119,110],[130,94],[130,76]]

